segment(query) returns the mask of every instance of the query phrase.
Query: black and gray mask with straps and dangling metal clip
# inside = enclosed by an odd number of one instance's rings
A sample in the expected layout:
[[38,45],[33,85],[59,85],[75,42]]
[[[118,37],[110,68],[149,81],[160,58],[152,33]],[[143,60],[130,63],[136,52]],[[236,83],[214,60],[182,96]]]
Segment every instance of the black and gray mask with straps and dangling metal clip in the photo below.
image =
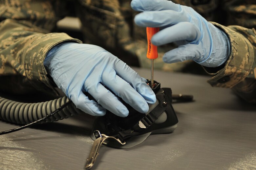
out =
[[[149,105],[149,111],[146,114],[139,113],[123,102],[129,110],[127,117],[118,117],[107,111],[105,116],[96,118],[91,138],[96,142],[94,146],[97,145],[98,147],[97,149],[95,147],[92,148],[87,159],[86,169],[90,169],[93,166],[100,144],[115,148],[131,148],[145,141],[150,134],[171,133],[176,129],[178,118],[171,104],[171,89],[160,88],[160,83],[156,81],[154,81],[154,85],[151,88],[156,94],[157,102]],[[104,140],[101,140],[100,143],[97,142],[98,137],[95,134],[105,136]],[[106,137],[111,138],[105,140]],[[91,155],[95,155],[93,160]]]

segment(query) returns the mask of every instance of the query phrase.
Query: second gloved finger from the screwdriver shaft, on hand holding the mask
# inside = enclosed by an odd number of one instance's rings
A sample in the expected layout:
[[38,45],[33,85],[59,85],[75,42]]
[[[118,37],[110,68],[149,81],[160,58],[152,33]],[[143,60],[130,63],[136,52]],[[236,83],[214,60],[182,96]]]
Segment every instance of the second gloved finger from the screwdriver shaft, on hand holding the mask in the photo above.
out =
[[104,72],[102,83],[138,112],[146,113],[148,111],[149,107],[145,99],[118,75]]

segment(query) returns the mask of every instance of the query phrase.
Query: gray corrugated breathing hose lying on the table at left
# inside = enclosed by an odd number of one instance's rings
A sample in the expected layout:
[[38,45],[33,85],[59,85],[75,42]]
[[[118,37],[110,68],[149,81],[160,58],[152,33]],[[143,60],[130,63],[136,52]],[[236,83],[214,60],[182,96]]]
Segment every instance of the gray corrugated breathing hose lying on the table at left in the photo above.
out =
[[[50,114],[68,101],[66,96],[41,103],[20,103],[0,97],[0,119],[18,124],[32,123]],[[84,112],[77,109],[72,103],[42,123],[62,120],[81,113]]]

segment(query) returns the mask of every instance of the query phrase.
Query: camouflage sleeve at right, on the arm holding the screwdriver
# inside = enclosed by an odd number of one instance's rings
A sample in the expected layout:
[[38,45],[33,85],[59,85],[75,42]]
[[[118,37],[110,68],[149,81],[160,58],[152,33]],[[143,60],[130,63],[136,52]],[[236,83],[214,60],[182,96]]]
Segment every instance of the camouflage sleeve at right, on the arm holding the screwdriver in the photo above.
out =
[[213,23],[229,37],[231,54],[223,69],[208,80],[212,86],[233,89],[247,102],[256,103],[256,32],[240,26]]

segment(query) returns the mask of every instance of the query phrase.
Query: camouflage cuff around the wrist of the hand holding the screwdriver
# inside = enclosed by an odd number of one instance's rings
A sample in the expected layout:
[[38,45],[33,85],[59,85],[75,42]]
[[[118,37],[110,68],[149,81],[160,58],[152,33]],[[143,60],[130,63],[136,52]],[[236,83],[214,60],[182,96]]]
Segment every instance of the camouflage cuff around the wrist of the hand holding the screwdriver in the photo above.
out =
[[228,35],[231,52],[224,68],[215,73],[215,76],[207,82],[216,87],[232,88],[249,74],[253,65],[254,49],[242,34],[218,23],[211,23]]

